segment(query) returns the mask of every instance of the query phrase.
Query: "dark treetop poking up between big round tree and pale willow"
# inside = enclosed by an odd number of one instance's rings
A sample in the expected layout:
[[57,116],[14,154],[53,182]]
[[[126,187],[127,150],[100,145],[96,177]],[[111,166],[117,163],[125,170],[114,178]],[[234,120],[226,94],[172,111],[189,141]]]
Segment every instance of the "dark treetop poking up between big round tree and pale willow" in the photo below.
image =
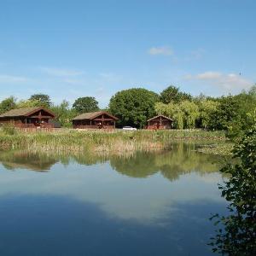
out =
[[182,92],[179,88],[171,85],[160,93],[160,102],[168,104],[170,102],[177,103],[183,101],[191,101],[192,96]]

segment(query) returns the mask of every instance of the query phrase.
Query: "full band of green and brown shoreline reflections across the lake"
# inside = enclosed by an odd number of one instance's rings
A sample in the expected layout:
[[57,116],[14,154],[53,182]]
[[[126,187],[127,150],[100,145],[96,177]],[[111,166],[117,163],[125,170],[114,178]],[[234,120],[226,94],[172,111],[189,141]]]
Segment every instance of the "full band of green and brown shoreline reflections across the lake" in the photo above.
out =
[[129,177],[148,177],[160,172],[169,180],[176,180],[189,172],[217,172],[218,156],[200,154],[195,144],[175,143],[170,150],[136,152],[125,155],[107,155],[90,152],[31,152],[9,151],[0,155],[3,166],[9,170],[25,168],[33,171],[47,171],[55,163],[62,165],[78,163],[91,166],[109,161],[112,168]]

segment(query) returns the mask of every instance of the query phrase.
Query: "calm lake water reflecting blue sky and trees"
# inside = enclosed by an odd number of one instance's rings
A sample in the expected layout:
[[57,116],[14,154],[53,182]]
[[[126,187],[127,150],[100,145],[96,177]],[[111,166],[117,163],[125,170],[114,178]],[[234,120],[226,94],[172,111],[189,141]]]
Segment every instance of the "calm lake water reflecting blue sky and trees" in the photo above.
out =
[[217,157],[0,154],[0,255],[212,255]]

